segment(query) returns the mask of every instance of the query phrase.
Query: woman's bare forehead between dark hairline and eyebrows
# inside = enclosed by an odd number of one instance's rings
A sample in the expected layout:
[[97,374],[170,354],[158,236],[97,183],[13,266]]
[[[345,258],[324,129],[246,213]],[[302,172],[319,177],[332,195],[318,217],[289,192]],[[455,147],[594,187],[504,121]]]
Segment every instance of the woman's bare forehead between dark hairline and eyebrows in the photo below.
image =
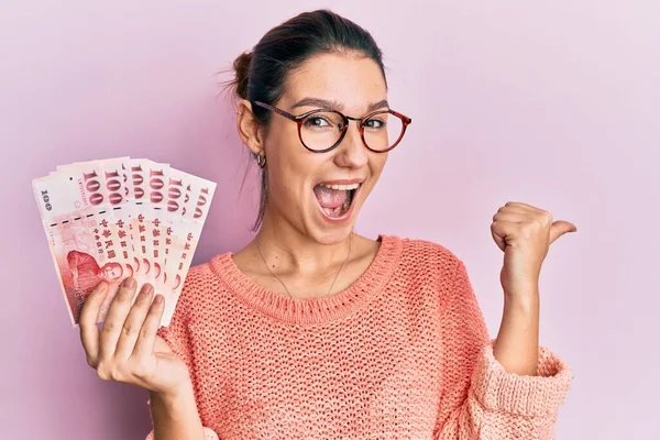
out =
[[283,106],[304,98],[337,101],[345,111],[363,111],[370,103],[387,99],[381,68],[371,58],[358,54],[320,54],[293,70],[282,97]]

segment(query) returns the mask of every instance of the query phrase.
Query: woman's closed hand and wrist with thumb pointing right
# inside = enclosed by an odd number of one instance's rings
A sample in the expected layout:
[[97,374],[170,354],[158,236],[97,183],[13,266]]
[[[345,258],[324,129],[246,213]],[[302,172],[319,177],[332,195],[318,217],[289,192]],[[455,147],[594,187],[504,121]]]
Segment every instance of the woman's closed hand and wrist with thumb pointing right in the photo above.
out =
[[552,215],[527,204],[509,201],[493,216],[491,233],[504,251],[499,280],[507,298],[538,294],[541,265],[550,244],[578,228],[568,221],[553,221]]

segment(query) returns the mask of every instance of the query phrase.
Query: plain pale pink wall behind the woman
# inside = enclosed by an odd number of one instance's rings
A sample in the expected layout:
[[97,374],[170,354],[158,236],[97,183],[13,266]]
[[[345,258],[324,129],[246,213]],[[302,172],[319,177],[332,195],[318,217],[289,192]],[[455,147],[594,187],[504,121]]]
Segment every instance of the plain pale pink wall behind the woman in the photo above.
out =
[[239,194],[248,160],[213,74],[271,26],[328,4],[372,31],[391,102],[414,119],[359,232],[452,249],[495,333],[493,213],[519,200],[573,221],[541,286],[542,343],[574,374],[557,438],[660,438],[656,0],[91,3],[0,4],[1,438],[150,429],[145,393],[85,363],[30,180],[74,161],[168,162],[218,183],[196,262],[238,250],[254,191]]

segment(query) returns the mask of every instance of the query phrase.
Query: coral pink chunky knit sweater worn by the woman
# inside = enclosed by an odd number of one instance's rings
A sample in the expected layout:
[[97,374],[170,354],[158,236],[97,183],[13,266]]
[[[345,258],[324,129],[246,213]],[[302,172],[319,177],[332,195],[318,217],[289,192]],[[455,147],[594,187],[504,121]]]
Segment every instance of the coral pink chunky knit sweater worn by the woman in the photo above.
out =
[[507,373],[462,261],[381,240],[326,298],[266,290],[230,253],[189,272],[160,334],[188,365],[207,439],[553,438],[569,367],[541,349],[539,376]]

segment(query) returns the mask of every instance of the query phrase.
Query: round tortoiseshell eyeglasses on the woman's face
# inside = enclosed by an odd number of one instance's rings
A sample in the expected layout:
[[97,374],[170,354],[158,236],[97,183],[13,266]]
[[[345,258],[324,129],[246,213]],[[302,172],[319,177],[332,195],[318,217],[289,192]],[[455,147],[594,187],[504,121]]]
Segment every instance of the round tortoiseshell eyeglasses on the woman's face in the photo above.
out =
[[295,121],[302,146],[314,153],[327,153],[336,148],[346,135],[349,121],[359,121],[364,146],[375,153],[385,153],[398,145],[406,128],[413,122],[410,118],[388,109],[376,110],[364,118],[351,118],[324,109],[294,116],[264,102],[252,103]]

